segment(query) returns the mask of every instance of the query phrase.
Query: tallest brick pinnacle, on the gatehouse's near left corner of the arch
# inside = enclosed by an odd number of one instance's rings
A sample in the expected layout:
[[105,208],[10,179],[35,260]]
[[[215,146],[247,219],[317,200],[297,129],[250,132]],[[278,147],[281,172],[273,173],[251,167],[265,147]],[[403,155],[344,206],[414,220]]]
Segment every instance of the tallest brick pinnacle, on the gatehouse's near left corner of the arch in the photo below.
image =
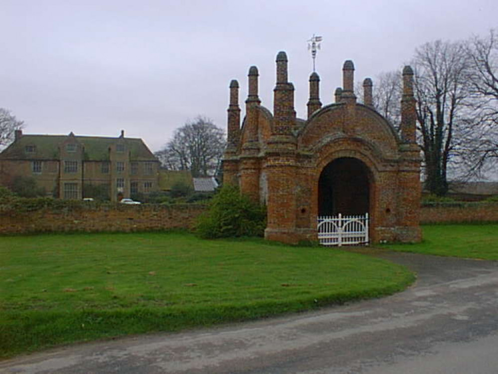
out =
[[277,84],[273,100],[273,115],[275,118],[275,134],[292,137],[292,128],[296,122],[294,110],[294,85],[287,81],[287,54],[280,51],[277,54]]

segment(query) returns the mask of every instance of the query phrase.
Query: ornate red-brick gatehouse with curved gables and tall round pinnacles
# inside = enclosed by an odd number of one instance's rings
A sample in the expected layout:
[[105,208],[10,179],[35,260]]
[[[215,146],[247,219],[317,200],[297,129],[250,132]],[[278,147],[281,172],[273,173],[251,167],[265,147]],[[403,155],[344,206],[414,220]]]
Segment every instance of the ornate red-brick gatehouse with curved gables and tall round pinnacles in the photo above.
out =
[[258,69],[249,69],[246,116],[240,126],[238,82],[230,83],[228,147],[223,182],[266,202],[265,237],[296,243],[316,240],[321,216],[368,214],[369,238],[419,241],[420,155],[415,144],[413,71],[403,69],[400,135],[372,106],[372,82],[363,82],[364,104],[353,93],[352,61],[343,87],[322,106],[320,78],[310,76],[308,119],[296,118],[287,56],[277,55],[273,114],[258,96]]

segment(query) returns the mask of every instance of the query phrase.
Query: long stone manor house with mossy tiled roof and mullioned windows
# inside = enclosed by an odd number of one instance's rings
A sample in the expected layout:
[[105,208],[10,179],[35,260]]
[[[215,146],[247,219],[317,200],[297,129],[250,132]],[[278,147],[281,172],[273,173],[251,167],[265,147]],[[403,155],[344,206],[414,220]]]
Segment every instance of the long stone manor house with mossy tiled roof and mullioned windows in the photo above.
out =
[[69,135],[23,135],[0,153],[0,185],[18,176],[34,179],[48,195],[112,201],[159,190],[159,161],[142,139]]

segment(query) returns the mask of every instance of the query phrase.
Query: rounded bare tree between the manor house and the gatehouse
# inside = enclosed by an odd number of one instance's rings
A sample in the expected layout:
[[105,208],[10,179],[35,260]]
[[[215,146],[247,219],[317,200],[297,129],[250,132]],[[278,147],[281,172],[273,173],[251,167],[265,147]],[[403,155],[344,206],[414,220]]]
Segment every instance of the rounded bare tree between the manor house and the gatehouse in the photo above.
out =
[[225,149],[223,130],[211,120],[197,117],[176,129],[166,146],[156,156],[169,170],[190,170],[193,177],[214,173]]

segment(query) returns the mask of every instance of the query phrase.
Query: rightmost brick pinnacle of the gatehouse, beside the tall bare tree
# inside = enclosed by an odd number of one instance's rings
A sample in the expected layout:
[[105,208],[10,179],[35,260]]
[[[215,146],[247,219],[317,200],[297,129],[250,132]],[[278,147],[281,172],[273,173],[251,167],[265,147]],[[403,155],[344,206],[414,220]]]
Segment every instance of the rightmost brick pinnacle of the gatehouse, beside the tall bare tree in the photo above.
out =
[[401,138],[405,143],[415,143],[416,112],[413,96],[413,69],[403,68],[403,96],[401,98]]

